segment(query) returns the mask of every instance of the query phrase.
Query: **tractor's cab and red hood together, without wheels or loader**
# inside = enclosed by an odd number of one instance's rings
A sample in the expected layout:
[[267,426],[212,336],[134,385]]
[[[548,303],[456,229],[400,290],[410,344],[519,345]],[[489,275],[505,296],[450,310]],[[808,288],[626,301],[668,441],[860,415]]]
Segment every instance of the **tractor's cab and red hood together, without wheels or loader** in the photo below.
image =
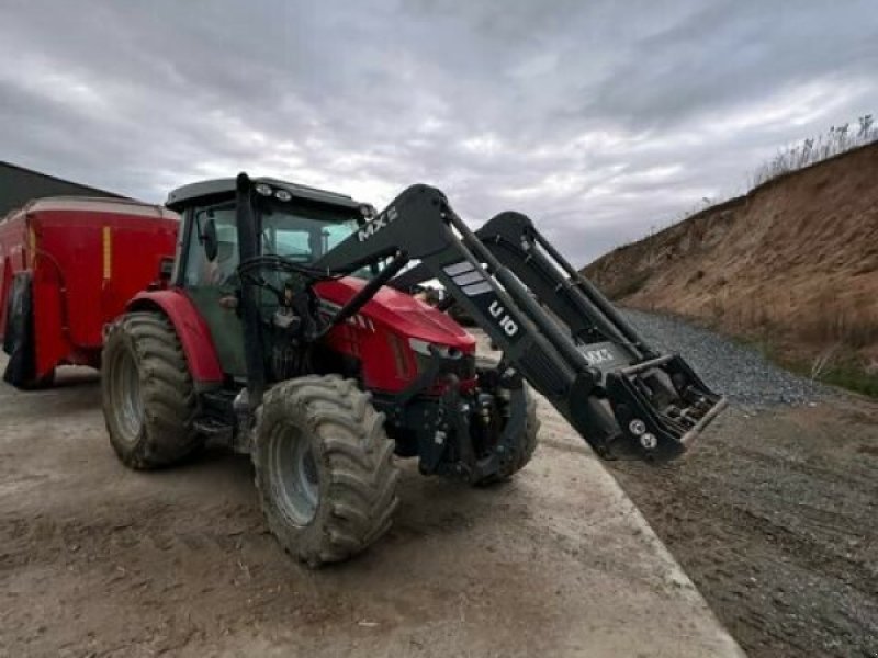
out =
[[[475,340],[446,314],[383,287],[385,259],[315,265],[371,228],[371,206],[273,179],[236,184],[195,183],[167,202],[183,217],[173,284],[206,322],[230,388],[246,386],[258,400],[274,383],[339,373],[393,395],[424,373],[428,345],[452,355],[443,370],[474,383]],[[336,321],[358,296],[357,313]]]

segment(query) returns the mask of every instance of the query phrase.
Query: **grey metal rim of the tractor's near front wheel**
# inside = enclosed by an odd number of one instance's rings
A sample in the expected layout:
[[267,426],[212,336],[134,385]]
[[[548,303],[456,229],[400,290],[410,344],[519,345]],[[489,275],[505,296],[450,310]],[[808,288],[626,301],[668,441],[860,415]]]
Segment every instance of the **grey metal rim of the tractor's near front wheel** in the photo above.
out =
[[296,524],[307,525],[317,513],[320,479],[311,442],[297,428],[282,423],[272,440],[272,468],[280,507]]

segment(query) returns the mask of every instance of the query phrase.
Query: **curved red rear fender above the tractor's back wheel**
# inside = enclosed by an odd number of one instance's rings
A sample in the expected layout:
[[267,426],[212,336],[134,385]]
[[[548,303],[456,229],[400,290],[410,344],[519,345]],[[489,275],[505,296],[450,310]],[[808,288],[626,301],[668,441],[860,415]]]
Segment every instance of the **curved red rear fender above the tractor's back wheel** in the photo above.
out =
[[223,368],[211,330],[182,291],[138,293],[128,302],[126,310],[160,310],[168,317],[180,339],[196,390],[216,388],[223,384]]

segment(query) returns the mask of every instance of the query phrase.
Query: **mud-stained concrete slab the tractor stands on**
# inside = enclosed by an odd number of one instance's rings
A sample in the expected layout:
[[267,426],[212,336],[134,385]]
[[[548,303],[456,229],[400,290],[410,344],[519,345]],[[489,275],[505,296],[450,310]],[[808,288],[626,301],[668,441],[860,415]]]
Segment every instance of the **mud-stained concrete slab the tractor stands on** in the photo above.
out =
[[132,472],[95,375],[59,384],[0,385],[0,656],[740,655],[545,405],[514,481],[406,463],[390,534],[309,571],[267,532],[247,457]]

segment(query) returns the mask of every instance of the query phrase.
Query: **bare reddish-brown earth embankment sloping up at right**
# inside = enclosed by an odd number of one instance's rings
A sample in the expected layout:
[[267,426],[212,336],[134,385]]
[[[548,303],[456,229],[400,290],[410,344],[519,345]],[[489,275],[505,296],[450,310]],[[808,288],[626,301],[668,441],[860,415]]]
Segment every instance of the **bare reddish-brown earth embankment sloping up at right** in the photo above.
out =
[[878,144],[707,208],[584,273],[624,305],[878,375]]

